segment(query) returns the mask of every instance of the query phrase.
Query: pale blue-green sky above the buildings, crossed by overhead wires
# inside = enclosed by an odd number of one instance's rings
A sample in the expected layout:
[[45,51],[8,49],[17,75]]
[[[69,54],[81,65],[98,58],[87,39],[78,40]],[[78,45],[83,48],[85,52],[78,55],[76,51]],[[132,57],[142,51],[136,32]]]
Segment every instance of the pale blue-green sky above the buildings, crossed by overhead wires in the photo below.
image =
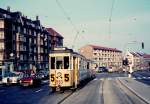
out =
[[0,0],[7,6],[33,20],[38,15],[75,50],[93,44],[150,53],[150,0]]

